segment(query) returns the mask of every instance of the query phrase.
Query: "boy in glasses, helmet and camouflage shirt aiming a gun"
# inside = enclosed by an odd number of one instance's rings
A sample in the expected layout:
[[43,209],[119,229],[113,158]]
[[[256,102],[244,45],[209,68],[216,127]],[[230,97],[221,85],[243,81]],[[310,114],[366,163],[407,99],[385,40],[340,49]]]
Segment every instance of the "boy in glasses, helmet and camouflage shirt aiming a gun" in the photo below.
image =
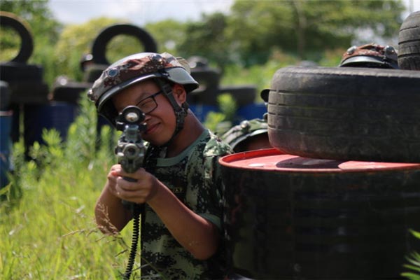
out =
[[128,174],[113,165],[95,207],[99,228],[115,233],[132,218],[122,200],[144,205],[142,278],[221,279],[225,273],[218,158],[231,149],[188,109],[186,94],[197,87],[184,59],[144,52],[109,66],[88,92],[114,125],[126,106],[146,115],[144,168]]

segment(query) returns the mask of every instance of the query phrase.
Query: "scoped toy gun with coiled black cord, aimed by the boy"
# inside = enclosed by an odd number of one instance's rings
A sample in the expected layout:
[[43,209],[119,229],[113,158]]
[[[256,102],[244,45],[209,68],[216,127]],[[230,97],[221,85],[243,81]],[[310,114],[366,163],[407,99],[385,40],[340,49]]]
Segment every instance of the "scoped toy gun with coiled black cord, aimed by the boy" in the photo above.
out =
[[[146,131],[146,124],[143,121],[144,113],[137,106],[125,107],[123,112],[117,117],[117,130],[123,131],[123,134],[118,139],[115,153],[118,158],[118,163],[127,173],[134,173],[143,165],[145,148],[143,139],[141,139],[141,133]],[[132,178],[124,179],[127,181],[136,181]],[[123,204],[131,209],[134,219],[130,258],[123,275],[123,279],[128,280],[132,274],[134,259],[136,258],[137,243],[139,241],[139,217],[142,211],[142,205],[125,200],[123,200]]]

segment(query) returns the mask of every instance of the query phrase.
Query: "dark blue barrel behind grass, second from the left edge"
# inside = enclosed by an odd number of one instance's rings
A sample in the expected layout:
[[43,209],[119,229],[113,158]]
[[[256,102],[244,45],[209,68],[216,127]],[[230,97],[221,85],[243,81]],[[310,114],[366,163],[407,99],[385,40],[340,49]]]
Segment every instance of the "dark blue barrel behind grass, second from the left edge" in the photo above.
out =
[[55,129],[63,140],[67,130],[78,113],[78,106],[67,102],[50,104],[25,104],[24,106],[24,139],[29,148],[35,141],[45,144],[42,139],[43,129]]

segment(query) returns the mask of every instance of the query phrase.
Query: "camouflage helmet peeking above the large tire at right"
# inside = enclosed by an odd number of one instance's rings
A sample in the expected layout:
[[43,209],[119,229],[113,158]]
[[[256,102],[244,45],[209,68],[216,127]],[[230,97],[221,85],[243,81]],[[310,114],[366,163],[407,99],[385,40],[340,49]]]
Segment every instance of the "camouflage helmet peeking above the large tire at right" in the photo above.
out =
[[399,69],[395,48],[374,43],[353,45],[344,52],[339,66]]

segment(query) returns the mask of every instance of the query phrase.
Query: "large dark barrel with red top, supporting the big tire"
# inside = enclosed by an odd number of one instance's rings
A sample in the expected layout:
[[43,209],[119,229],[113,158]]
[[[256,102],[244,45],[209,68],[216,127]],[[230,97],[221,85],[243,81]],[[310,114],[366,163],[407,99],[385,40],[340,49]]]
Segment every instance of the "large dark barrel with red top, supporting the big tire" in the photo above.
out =
[[265,149],[220,160],[232,274],[398,279],[420,251],[420,163],[321,160]]

